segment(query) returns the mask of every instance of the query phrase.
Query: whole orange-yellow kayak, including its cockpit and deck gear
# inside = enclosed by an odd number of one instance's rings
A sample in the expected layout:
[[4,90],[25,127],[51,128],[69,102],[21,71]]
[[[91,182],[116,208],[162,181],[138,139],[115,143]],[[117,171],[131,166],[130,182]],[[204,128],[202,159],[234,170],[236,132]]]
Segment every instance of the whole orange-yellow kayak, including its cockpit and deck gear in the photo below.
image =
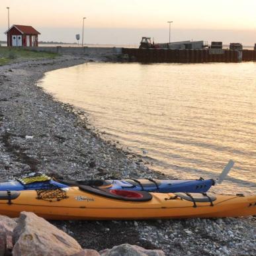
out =
[[22,211],[48,220],[237,217],[256,214],[256,196],[163,194],[87,186],[0,192],[0,214],[17,217]]

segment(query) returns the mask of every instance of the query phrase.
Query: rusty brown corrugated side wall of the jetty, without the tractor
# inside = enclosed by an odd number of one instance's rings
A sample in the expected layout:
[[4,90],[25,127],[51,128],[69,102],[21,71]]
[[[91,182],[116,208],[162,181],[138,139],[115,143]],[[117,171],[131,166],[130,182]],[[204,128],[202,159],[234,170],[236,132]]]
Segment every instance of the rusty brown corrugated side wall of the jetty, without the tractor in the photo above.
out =
[[256,61],[255,50],[122,48],[124,58],[136,62],[204,63]]

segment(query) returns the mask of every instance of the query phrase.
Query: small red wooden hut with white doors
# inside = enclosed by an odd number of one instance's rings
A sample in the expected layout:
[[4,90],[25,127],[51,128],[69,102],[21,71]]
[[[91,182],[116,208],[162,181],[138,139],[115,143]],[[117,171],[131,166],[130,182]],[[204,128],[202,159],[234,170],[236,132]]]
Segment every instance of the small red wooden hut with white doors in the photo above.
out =
[[13,25],[5,34],[7,35],[7,46],[38,46],[38,34],[40,32],[32,26]]

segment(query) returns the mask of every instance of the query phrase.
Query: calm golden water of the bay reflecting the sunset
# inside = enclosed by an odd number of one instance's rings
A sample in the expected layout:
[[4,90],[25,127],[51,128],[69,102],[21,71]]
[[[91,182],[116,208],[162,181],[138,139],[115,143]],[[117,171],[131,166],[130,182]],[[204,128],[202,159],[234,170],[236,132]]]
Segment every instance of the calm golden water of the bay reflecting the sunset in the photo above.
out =
[[216,178],[224,192],[256,191],[256,64],[89,63],[46,73],[40,85],[177,178]]

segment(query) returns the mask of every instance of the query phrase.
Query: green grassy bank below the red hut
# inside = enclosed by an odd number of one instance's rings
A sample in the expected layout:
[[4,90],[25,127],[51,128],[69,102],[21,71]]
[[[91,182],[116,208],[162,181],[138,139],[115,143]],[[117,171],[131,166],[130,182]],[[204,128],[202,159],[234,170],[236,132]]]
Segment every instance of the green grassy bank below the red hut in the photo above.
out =
[[17,60],[31,60],[31,59],[42,59],[42,58],[56,58],[59,54],[52,52],[35,52],[28,49],[22,48],[7,48],[0,47],[0,65],[6,65]]

